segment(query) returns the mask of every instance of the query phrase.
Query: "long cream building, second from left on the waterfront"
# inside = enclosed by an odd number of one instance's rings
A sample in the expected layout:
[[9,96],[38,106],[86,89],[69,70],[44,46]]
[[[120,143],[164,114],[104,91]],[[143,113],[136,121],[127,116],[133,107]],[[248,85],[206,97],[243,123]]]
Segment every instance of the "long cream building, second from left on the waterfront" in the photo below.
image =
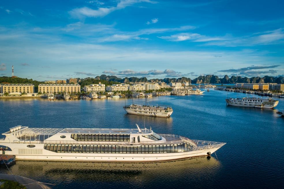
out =
[[59,92],[80,92],[79,84],[39,84],[38,92],[41,93],[59,93]]

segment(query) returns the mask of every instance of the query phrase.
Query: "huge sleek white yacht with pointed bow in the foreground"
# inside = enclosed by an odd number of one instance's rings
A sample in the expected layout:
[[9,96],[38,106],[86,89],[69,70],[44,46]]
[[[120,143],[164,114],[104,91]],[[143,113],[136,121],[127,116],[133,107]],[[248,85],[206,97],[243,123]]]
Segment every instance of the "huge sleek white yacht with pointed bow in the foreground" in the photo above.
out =
[[29,128],[3,133],[0,154],[16,160],[151,162],[210,156],[225,143],[190,140],[153,130],[95,128]]

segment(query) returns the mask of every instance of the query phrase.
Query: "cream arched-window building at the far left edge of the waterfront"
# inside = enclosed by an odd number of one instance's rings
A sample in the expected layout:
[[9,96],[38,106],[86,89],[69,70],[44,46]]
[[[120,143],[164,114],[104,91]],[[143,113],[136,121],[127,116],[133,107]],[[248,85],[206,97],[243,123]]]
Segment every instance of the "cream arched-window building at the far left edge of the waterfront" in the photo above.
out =
[[0,84],[1,93],[34,93],[33,84]]

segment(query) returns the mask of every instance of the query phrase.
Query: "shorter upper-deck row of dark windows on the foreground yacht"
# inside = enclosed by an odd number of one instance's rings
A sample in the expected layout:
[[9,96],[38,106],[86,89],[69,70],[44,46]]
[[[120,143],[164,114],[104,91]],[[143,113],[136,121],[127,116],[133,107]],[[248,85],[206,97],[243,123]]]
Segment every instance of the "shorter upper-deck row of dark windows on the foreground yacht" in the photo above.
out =
[[71,134],[76,141],[123,141],[130,142],[130,134]]

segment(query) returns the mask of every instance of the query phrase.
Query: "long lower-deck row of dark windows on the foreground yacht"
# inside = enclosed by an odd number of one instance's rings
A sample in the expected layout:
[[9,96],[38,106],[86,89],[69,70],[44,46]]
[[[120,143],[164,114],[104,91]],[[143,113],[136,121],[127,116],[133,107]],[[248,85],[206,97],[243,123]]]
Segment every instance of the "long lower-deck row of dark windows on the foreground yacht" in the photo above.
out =
[[186,142],[141,146],[45,144],[44,149],[57,153],[156,154],[190,151],[192,145]]

